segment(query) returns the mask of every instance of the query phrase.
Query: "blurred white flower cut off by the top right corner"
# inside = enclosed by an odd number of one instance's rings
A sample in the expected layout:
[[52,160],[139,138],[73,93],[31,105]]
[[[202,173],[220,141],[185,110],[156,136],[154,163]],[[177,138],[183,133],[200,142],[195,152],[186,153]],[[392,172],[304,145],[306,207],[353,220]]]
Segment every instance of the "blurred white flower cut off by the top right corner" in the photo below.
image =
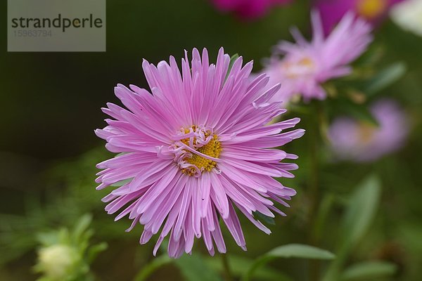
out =
[[422,1],[407,0],[391,10],[392,20],[402,27],[422,36]]

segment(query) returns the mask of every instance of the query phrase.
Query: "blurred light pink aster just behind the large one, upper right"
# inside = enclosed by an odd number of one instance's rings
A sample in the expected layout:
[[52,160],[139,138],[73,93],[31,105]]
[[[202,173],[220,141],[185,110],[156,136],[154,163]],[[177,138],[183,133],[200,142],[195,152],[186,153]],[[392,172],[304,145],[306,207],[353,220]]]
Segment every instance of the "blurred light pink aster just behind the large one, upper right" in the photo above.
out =
[[[270,77],[269,86],[281,83],[272,100],[287,102],[295,94],[304,100],[326,98],[321,84],[350,74],[348,65],[361,55],[371,42],[371,27],[364,20],[347,13],[328,37],[324,37],[321,17],[312,13],[313,39],[308,42],[293,29],[296,44],[281,41],[262,72]],[[279,58],[283,54],[283,58]]]

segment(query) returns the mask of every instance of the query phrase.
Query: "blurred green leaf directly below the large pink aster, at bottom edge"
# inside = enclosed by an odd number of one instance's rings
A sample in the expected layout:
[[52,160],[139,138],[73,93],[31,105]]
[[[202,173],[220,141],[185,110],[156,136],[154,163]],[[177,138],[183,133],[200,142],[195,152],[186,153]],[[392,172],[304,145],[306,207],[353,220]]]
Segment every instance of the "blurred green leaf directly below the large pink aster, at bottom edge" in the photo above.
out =
[[186,281],[221,281],[219,275],[211,270],[202,256],[196,254],[194,256],[183,255],[179,259],[174,260],[181,274]]

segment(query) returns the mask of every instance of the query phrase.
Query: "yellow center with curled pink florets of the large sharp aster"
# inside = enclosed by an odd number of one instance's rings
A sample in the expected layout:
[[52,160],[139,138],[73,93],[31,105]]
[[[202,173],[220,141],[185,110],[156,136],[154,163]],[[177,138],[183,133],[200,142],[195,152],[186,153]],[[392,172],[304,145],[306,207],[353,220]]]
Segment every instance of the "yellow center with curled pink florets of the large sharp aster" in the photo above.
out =
[[193,125],[181,129],[172,150],[174,162],[188,176],[200,176],[203,171],[218,171],[217,161],[222,152],[218,136],[205,126]]

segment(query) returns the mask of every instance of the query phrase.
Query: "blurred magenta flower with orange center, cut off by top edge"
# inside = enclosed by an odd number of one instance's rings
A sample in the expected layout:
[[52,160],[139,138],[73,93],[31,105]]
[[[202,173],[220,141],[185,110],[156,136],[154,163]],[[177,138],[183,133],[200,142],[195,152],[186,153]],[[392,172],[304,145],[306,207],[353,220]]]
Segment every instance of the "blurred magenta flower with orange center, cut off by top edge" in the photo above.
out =
[[376,25],[388,15],[392,6],[401,1],[403,0],[316,0],[314,6],[321,12],[324,32],[328,34],[347,11],[352,11]]

